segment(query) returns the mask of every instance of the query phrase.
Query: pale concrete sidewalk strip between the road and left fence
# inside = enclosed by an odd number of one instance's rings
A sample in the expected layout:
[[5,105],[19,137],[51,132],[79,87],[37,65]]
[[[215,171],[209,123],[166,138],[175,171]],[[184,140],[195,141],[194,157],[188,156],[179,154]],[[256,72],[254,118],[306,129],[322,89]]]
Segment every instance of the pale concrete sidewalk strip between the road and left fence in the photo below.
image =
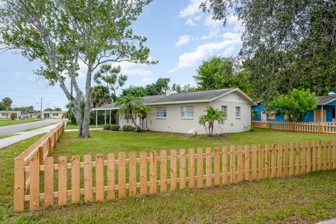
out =
[[50,130],[54,129],[59,124],[60,123],[57,123],[57,124],[54,124],[54,125],[49,125],[49,126],[46,126],[46,127],[41,127],[39,129],[31,130],[31,131],[28,131],[28,132],[18,132],[18,133],[15,133],[15,134],[17,134],[15,136],[0,139],[0,148],[5,148],[6,146],[10,146],[10,145],[15,144],[19,141],[29,139],[30,137],[34,137],[35,135],[38,135],[38,134],[43,134],[43,133],[50,132]]

